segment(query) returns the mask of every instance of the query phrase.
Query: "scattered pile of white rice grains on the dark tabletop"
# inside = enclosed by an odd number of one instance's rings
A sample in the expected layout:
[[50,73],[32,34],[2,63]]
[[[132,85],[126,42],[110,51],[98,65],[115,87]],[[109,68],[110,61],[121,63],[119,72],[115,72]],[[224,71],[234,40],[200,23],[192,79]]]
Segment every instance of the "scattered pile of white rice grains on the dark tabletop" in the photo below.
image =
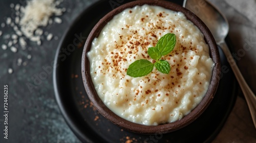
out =
[[[5,17],[5,22],[0,23],[0,25],[1,28],[5,28],[6,25],[8,28],[13,28],[14,33],[3,34],[0,31],[0,36],[3,35],[5,42],[1,46],[2,49],[7,50],[10,48],[13,53],[18,51],[18,47],[22,50],[28,49],[28,51],[31,51],[32,48],[28,46],[28,41],[36,42],[37,45],[41,45],[42,39],[50,41],[53,38],[53,34],[44,34],[43,29],[47,25],[52,25],[53,21],[55,23],[62,22],[59,17],[55,17],[54,20],[51,18],[52,16],[60,16],[66,11],[65,8],[57,8],[61,2],[63,0],[25,0],[20,3],[24,6],[11,3],[12,14],[10,17]],[[54,38],[58,39],[58,37]],[[31,57],[31,55],[27,55],[27,59],[31,59]],[[23,62],[22,58],[17,60],[18,65],[26,66],[27,63],[27,61]],[[8,73],[13,73],[12,68],[8,69]]]

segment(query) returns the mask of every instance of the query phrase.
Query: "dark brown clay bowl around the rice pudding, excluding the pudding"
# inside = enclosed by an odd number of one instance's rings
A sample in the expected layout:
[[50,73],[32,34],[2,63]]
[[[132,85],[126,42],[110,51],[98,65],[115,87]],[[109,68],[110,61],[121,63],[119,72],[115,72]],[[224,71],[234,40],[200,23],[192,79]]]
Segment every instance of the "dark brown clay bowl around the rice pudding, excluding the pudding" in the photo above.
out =
[[[209,45],[210,56],[215,63],[215,67],[212,71],[212,77],[211,77],[209,88],[205,94],[205,97],[202,99],[199,105],[196,108],[194,108],[189,114],[181,118],[180,120],[173,123],[167,123],[167,124],[162,124],[157,126],[146,126],[146,125],[132,123],[116,115],[108,107],[106,107],[104,103],[101,101],[101,99],[98,97],[96,90],[94,88],[94,85],[90,76],[89,60],[86,56],[87,52],[90,51],[91,49],[92,40],[99,35],[104,25],[108,21],[110,21],[114,15],[120,13],[126,8],[132,8],[136,5],[144,5],[144,4],[157,5],[166,9],[170,9],[173,11],[180,11],[184,13],[187,19],[193,22],[199,28],[199,30],[203,33],[205,37],[205,41]],[[208,105],[210,104],[210,102],[215,96],[215,93],[218,88],[219,80],[220,80],[220,57],[219,57],[219,51],[218,51],[217,44],[214,40],[214,37],[212,36],[208,28],[205,26],[205,24],[195,14],[193,14],[189,10],[177,4],[166,2],[166,1],[148,1],[148,0],[134,1],[134,2],[130,2],[130,3],[119,6],[118,8],[112,10],[111,12],[106,14],[104,17],[102,17],[102,19],[98,21],[98,23],[95,25],[95,27],[92,29],[91,33],[89,34],[86,43],[84,44],[81,69],[82,69],[81,70],[82,80],[83,80],[84,88],[86,89],[86,92],[88,94],[88,97],[93,103],[93,105],[95,106],[95,108],[105,118],[107,118],[113,124],[122,127],[123,129],[133,131],[136,133],[163,134],[163,133],[173,132],[187,126],[188,124],[195,121],[208,107]]]

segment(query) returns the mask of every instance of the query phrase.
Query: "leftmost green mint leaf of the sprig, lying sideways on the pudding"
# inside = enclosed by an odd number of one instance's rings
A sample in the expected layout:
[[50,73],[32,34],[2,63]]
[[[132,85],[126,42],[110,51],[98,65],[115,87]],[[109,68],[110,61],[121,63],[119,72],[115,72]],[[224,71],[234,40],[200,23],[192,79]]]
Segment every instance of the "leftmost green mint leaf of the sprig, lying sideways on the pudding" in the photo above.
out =
[[134,78],[143,77],[147,74],[150,74],[153,68],[154,68],[153,63],[151,63],[148,60],[141,59],[130,64],[130,66],[126,71],[126,74]]

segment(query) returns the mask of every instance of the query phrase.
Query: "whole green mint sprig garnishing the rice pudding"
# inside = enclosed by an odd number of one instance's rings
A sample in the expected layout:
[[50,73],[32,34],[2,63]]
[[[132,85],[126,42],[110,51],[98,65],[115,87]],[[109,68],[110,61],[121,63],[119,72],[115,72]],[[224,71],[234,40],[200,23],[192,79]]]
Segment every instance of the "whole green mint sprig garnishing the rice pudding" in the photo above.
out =
[[133,62],[127,69],[126,74],[131,77],[143,77],[150,74],[154,66],[163,74],[169,74],[170,65],[166,60],[160,60],[174,50],[176,44],[176,36],[173,33],[165,34],[161,37],[155,47],[149,47],[147,54],[154,60],[152,63],[148,60],[141,59]]

